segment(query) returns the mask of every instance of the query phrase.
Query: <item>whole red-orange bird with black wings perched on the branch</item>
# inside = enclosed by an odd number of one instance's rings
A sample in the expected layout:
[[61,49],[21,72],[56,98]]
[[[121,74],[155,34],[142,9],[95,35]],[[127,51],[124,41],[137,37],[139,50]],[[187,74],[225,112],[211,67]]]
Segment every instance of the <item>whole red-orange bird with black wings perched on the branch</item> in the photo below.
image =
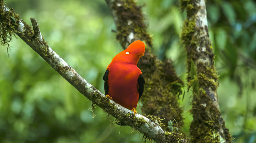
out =
[[137,40],[118,53],[107,66],[103,76],[106,97],[137,113],[135,108],[143,93],[145,80],[137,67],[144,56],[145,45]]

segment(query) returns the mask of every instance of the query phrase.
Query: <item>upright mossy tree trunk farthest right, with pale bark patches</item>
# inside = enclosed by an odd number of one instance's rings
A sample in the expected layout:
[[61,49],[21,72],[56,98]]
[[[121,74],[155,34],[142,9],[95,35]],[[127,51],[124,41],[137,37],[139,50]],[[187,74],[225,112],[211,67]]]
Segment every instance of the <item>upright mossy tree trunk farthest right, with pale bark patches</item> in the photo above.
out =
[[205,1],[181,0],[181,9],[187,11],[181,42],[187,51],[188,85],[193,90],[191,142],[231,143],[232,137],[219,110],[219,82],[208,35]]

